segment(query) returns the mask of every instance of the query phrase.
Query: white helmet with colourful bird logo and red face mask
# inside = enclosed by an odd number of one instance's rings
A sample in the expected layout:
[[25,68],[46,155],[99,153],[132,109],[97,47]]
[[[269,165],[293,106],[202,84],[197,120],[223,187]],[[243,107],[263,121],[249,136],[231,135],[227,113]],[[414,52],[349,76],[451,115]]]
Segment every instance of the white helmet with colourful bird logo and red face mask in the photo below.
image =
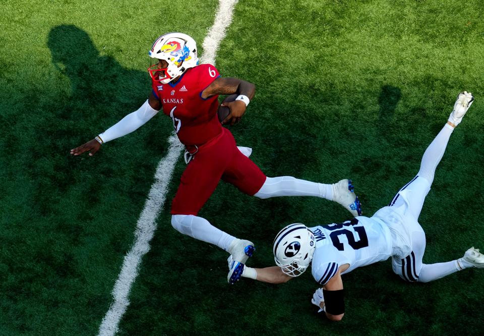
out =
[[[190,68],[199,65],[197,57],[197,42],[184,33],[168,33],[161,35],[148,52],[155,64],[148,68],[148,72],[161,84],[169,83]],[[158,69],[159,60],[165,60],[168,66]]]

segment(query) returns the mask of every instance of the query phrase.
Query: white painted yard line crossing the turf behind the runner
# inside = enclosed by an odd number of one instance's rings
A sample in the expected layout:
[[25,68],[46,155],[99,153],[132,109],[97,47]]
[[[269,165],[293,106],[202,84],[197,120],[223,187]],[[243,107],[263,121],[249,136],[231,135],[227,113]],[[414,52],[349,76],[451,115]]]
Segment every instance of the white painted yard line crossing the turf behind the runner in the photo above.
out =
[[[225,30],[232,21],[232,12],[238,0],[219,0],[219,6],[213,26],[203,41],[203,63],[215,65],[215,57]],[[99,326],[99,336],[114,335],[118,331],[119,321],[130,304],[131,286],[138,276],[141,258],[150,250],[150,241],[156,230],[156,217],[163,208],[168,184],[183,145],[173,134],[169,139],[168,154],[161,159],[155,173],[155,182],[151,186],[145,207],[140,214],[135,230],[135,243],[126,254],[123,266],[112,290],[113,301]],[[169,226],[168,223],[166,223]],[[171,229],[171,228],[170,228]]]

